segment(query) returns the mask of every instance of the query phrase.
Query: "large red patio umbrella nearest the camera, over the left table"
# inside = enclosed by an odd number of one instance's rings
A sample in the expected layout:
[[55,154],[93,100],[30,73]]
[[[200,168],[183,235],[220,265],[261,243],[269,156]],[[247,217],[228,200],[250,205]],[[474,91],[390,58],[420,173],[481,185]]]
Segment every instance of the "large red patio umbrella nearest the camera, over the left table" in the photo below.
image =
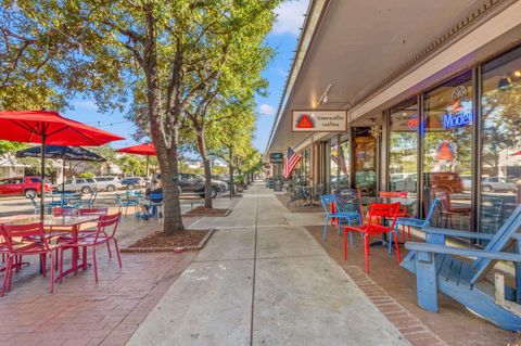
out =
[[99,146],[123,137],[67,119],[50,111],[0,111],[0,139],[41,143],[40,216],[43,218],[46,144]]

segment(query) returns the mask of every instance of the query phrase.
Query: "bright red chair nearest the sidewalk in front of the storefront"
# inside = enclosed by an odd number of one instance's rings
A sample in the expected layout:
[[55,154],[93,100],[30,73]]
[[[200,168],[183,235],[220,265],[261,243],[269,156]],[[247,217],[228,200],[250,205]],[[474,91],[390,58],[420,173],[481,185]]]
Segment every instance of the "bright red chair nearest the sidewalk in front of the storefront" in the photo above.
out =
[[[346,226],[344,228],[344,259],[347,260],[347,232],[360,232],[364,234],[364,252],[366,258],[366,271],[369,273],[369,240],[371,236],[382,235],[391,232],[394,238],[394,245],[396,251],[396,259],[398,264],[402,261],[399,256],[398,240],[394,230],[394,225],[399,215],[401,203],[391,204],[371,204],[369,206],[369,217],[367,223],[363,227]],[[376,223],[376,219],[386,218],[391,220],[387,226]]]

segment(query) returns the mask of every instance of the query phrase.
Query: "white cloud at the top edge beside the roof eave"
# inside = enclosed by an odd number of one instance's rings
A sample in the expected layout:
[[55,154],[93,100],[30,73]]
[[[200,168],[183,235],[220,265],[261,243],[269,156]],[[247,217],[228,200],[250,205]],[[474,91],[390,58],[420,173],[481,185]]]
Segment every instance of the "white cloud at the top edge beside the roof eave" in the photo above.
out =
[[275,35],[292,34],[298,36],[298,28],[304,22],[308,0],[284,1],[276,10],[277,23],[271,30]]

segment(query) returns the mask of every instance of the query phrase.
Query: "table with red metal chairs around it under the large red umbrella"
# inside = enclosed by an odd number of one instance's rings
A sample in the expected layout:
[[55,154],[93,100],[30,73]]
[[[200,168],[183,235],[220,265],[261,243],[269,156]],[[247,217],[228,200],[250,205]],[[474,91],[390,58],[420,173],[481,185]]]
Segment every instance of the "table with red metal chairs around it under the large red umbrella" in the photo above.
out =
[[[106,245],[112,257],[111,244],[117,256],[119,267],[122,260],[116,239],[116,229],[120,213],[109,215],[109,208],[63,208],[55,207],[52,215],[9,217],[0,219],[0,254],[2,255],[3,282],[0,295],[11,291],[13,271],[24,270],[26,256],[38,255],[40,272],[47,275],[47,258],[49,257],[50,292],[53,292],[54,280],[78,270],[87,270],[87,251],[91,248],[91,260],[96,281],[98,267],[96,249]],[[94,228],[82,228],[86,223],[96,223]],[[71,251],[71,268],[64,270],[64,253]],[[80,258],[79,251],[82,252]],[[58,266],[56,266],[58,265]],[[56,272],[58,277],[56,275]]]

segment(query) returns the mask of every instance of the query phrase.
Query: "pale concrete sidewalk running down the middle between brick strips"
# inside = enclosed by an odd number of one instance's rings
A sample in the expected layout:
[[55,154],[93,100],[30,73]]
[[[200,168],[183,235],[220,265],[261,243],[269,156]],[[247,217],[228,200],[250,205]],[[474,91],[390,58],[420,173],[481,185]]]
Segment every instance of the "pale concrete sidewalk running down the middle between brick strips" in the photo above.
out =
[[303,226],[262,184],[227,218],[128,345],[408,345]]

